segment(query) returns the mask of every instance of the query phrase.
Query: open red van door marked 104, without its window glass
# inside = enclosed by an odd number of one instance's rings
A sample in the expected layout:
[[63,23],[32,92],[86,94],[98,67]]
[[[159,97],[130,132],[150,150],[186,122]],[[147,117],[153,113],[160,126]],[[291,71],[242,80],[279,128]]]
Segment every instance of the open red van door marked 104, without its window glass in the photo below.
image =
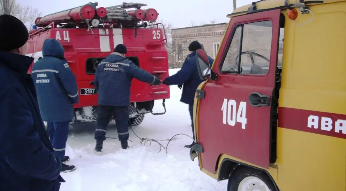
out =
[[[200,100],[198,116],[198,142],[203,145],[201,153],[202,168],[215,173],[217,159],[220,154],[229,154],[240,160],[269,168],[270,152],[270,107],[252,107],[248,96],[259,92],[271,96],[275,85],[275,69],[277,60],[277,44],[279,37],[280,10],[271,10],[232,18],[225,41],[231,38],[233,27],[240,23],[271,20],[273,23],[270,68],[265,76],[236,75],[220,73],[220,62],[227,54],[227,42],[223,42],[216,58],[213,71],[218,74],[216,81],[210,80],[203,88],[206,92]],[[221,54],[222,53],[222,54]],[[247,123],[234,126],[223,123],[221,111],[224,99],[235,100],[236,111],[240,102],[246,102]],[[244,117],[244,116],[243,116]]]

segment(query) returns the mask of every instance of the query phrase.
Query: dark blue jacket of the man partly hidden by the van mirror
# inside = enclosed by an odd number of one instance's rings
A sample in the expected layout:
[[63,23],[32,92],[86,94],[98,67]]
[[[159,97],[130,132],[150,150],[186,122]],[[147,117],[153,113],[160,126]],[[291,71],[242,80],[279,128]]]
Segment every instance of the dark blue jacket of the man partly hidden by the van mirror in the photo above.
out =
[[[211,67],[214,60],[209,56],[208,59]],[[197,87],[203,81],[198,74],[196,51],[194,51],[188,55],[181,69],[176,74],[166,78],[164,83],[169,86],[183,84],[180,101],[190,105],[193,104]]]

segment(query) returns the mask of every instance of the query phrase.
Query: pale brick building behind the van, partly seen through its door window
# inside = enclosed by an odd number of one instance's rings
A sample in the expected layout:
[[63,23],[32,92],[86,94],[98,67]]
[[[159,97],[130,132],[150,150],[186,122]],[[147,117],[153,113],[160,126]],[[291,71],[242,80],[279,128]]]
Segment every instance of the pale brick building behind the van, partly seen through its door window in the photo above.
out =
[[[256,52],[266,58],[270,58],[272,26],[270,21],[256,22],[246,24],[244,26],[243,47],[242,52]],[[170,68],[180,68],[190,51],[189,44],[197,40],[211,58],[215,58],[225,33],[227,23],[207,24],[201,26],[184,27],[171,29],[172,34],[172,51],[170,54]],[[278,65],[282,64],[282,48],[283,48],[284,29],[280,30],[279,37],[279,60]],[[228,50],[224,60],[223,67],[233,68],[236,65],[237,55],[239,54],[240,28],[235,32],[231,48]],[[255,56],[255,63],[267,67],[269,64],[264,59]],[[242,55],[243,66],[251,66],[252,61],[248,54]]]

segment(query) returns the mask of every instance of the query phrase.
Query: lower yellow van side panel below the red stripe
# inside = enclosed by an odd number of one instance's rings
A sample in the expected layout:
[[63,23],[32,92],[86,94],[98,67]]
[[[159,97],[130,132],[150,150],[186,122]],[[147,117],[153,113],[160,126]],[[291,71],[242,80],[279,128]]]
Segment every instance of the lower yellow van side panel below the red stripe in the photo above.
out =
[[280,191],[345,191],[346,141],[278,128]]

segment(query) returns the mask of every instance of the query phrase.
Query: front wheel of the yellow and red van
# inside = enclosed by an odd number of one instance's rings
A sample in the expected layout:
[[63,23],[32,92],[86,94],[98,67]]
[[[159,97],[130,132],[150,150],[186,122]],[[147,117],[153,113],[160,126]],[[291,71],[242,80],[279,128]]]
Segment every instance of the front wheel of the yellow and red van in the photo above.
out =
[[273,181],[260,170],[239,166],[228,179],[228,191],[276,191]]

